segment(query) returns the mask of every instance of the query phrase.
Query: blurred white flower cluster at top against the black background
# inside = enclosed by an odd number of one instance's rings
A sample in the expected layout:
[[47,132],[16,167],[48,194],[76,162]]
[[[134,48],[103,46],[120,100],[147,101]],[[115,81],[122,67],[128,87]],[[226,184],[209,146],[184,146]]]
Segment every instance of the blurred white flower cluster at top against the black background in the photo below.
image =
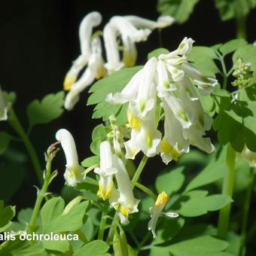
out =
[[[156,22],[136,16],[112,17],[103,29],[107,57],[104,63],[100,32],[93,34],[93,28],[99,26],[102,16],[97,11],[87,14],[79,27],[81,55],[73,62],[64,81],[64,90],[69,90],[65,108],[72,110],[79,100],[81,91],[95,79],[110,75],[123,66],[133,66],[137,58],[136,42],[147,40],[153,29],[162,29],[171,25],[173,21],[169,16],[159,17]],[[119,38],[123,46],[119,45]],[[120,48],[123,49],[122,60],[120,60]],[[86,67],[84,73],[78,78],[84,67]]]

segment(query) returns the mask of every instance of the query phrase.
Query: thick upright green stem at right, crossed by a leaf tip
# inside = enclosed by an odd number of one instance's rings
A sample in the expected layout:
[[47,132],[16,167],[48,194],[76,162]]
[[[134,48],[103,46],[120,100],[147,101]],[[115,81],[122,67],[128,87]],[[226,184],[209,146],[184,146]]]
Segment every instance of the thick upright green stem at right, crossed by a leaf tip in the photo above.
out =
[[[231,145],[227,145],[227,172],[224,175],[222,194],[233,196],[233,185],[236,177],[236,151],[233,150]],[[230,224],[230,209],[231,203],[227,204],[220,210],[218,216],[218,236],[221,239],[226,239],[227,231]]]

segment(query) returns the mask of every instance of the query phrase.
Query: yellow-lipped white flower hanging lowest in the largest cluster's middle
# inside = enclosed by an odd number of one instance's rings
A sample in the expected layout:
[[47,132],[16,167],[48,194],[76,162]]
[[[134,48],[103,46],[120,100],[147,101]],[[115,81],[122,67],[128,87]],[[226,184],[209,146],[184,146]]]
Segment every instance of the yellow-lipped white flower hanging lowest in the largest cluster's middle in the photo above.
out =
[[160,152],[163,163],[168,164],[170,161],[178,160],[178,157],[189,151],[189,143],[183,136],[181,123],[176,119],[172,109],[163,99],[163,110],[165,113],[164,136],[160,142]]

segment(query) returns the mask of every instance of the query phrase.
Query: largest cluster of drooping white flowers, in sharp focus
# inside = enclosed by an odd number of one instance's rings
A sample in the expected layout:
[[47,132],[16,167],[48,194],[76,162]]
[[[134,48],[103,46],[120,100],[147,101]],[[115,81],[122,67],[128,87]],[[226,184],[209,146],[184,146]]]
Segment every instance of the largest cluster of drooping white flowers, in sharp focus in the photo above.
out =
[[[152,57],[120,93],[108,94],[106,101],[112,104],[129,102],[131,135],[124,143],[126,158],[134,159],[139,151],[148,157],[160,153],[167,164],[187,153],[190,145],[208,153],[215,150],[210,139],[204,138],[212,118],[203,111],[198,93],[209,95],[218,81],[187,61],[193,42],[184,38],[177,50]],[[162,137],[157,126],[163,115]]]

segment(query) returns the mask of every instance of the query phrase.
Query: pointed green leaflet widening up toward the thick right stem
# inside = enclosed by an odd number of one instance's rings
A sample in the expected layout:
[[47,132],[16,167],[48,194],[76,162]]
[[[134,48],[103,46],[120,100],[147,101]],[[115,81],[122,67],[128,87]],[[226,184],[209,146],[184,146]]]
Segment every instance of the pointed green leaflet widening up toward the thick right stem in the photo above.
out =
[[187,184],[185,191],[193,190],[197,187],[202,187],[206,184],[211,184],[212,182],[218,181],[224,176],[224,171],[227,169],[226,166],[226,150],[222,150],[221,154],[218,152],[211,162],[200,172],[195,178]]

